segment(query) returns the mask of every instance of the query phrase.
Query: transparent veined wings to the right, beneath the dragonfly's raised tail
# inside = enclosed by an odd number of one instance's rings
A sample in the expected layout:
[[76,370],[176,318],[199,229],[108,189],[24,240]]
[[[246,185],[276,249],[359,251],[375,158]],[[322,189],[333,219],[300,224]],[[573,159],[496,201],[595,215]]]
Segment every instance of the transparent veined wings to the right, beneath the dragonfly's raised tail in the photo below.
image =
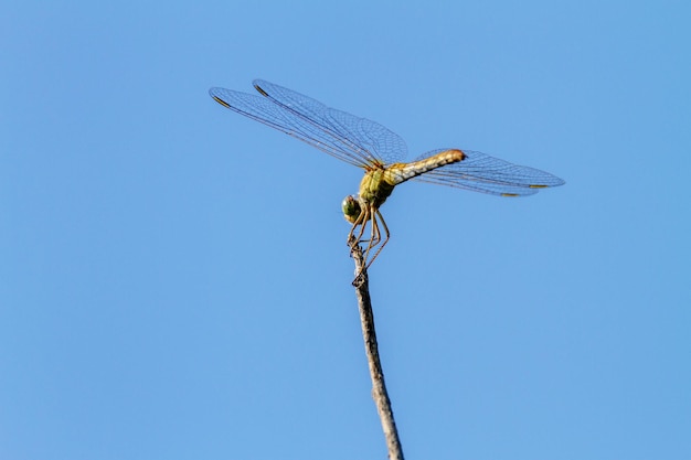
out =
[[[447,149],[427,152],[416,161],[444,150]],[[539,169],[521,167],[471,150],[463,150],[463,152],[466,154],[465,160],[427,171],[412,180],[503,196],[532,195],[540,189],[565,183],[556,175]]]

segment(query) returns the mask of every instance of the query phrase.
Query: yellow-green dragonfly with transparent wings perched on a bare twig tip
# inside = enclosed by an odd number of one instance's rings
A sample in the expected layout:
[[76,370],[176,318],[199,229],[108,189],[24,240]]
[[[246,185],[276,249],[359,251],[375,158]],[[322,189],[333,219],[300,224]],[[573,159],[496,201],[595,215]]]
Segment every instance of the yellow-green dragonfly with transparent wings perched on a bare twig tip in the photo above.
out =
[[[405,141],[384,126],[263,79],[255,79],[253,85],[258,94],[220,87],[211,88],[209,94],[225,108],[364,170],[358,195],[347,196],[341,206],[351,224],[348,234],[351,249],[366,243],[363,270],[376,259],[391,236],[380,207],[394,188],[405,181],[498,196],[532,195],[565,183],[549,172],[465,149],[436,149],[404,162]],[[370,234],[365,237],[368,223]]]

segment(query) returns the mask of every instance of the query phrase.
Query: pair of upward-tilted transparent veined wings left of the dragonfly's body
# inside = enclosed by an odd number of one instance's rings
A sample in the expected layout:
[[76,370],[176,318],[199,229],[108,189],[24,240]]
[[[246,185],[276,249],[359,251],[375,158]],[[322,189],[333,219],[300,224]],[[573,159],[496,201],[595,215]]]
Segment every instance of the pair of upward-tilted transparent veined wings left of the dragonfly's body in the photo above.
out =
[[310,97],[255,81],[261,96],[211,88],[209,94],[224,107],[296,137],[340,160],[358,167],[400,161],[405,141],[366,118],[337,110]]

